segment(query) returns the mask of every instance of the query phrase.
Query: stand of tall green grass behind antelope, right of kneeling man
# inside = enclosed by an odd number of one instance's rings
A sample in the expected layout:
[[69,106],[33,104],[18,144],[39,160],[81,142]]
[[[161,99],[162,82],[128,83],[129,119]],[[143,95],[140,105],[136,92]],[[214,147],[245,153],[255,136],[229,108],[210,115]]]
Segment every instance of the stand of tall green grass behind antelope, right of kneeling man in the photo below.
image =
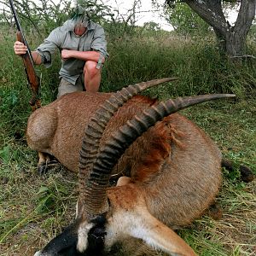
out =
[[166,96],[204,93],[255,95],[255,61],[231,61],[218,53],[212,38],[108,39],[110,57],[103,70],[103,90],[166,76],[179,77],[172,87],[158,90]]

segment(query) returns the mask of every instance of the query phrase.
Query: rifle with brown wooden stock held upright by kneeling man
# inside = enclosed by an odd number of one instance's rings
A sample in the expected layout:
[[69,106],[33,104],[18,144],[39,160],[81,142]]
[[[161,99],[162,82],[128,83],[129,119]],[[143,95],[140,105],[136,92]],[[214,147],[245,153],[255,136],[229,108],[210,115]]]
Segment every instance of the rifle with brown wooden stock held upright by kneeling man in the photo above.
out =
[[28,84],[30,84],[30,88],[32,90],[32,99],[29,101],[30,106],[32,107],[32,111],[41,107],[41,102],[39,99],[39,88],[40,88],[40,79],[35,71],[34,63],[32,60],[31,50],[26,43],[26,38],[24,33],[22,32],[20,21],[18,19],[18,15],[15,10],[15,6],[12,0],[9,0],[11,10],[15,17],[15,24],[17,26],[17,40],[21,43],[25,44],[27,47],[27,51],[25,55],[21,55],[22,61],[25,67],[26,79]]

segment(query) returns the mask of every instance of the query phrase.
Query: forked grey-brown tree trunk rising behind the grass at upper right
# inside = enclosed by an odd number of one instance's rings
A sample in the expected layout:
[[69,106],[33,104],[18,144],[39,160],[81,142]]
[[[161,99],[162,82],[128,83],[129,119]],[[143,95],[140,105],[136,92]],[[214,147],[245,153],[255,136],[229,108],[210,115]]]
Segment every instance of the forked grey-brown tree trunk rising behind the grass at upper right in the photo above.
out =
[[212,26],[220,50],[228,56],[245,54],[247,32],[255,16],[256,0],[241,0],[235,26],[230,26],[225,19],[221,0],[184,0],[184,2]]

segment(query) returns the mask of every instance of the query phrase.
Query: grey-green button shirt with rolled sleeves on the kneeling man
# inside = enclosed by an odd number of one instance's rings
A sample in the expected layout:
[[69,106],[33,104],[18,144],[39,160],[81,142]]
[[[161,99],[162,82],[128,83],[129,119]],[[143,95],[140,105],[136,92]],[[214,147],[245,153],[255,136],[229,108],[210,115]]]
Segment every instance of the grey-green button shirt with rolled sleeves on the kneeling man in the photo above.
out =
[[[52,54],[56,49],[96,50],[105,58],[108,57],[107,41],[102,26],[90,21],[87,31],[82,36],[77,36],[73,32],[74,26],[75,22],[73,20],[67,20],[63,26],[59,26],[50,32],[49,37],[44,39],[44,43],[38,46],[37,51],[42,56],[46,67],[51,66]],[[61,60],[60,77],[75,84],[79,75],[83,73],[84,62],[75,58],[70,58],[67,61]]]

